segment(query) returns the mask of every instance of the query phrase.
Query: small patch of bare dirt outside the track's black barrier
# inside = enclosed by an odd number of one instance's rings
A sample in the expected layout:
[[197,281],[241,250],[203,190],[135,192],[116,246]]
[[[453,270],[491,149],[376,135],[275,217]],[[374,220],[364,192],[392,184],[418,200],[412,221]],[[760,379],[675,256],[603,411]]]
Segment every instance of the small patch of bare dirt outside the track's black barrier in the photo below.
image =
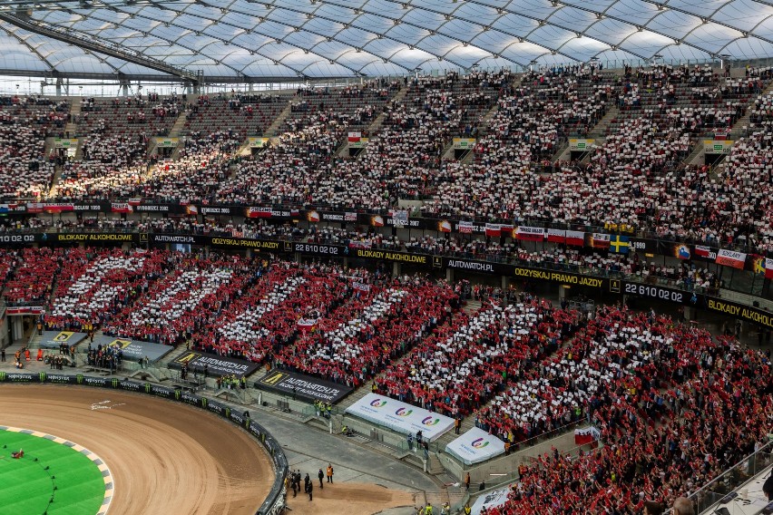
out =
[[405,506],[406,513],[416,513],[414,506],[418,506],[420,501],[414,493],[387,490],[373,484],[333,483],[325,484],[320,490],[319,482],[315,481],[314,487],[311,501],[308,500],[308,493],[298,493],[298,497],[293,498],[292,491],[289,491],[287,501],[293,515],[363,515],[399,506]]

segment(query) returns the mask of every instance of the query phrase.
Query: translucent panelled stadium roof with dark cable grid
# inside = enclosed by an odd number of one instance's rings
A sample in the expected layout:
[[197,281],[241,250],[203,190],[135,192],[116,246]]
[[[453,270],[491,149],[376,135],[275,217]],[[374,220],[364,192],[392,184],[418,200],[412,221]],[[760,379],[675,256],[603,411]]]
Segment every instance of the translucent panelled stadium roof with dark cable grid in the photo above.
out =
[[259,82],[773,56],[773,0],[0,0],[0,73]]

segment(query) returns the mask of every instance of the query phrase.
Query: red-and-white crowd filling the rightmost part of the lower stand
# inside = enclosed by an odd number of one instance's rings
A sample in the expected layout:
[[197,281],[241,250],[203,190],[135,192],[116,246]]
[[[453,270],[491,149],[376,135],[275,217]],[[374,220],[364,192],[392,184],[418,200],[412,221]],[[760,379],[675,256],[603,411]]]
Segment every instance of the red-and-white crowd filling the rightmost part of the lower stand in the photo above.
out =
[[582,507],[633,514],[645,500],[670,505],[767,437],[769,374],[767,355],[734,340],[715,341],[668,317],[604,307],[570,345],[525,371],[515,385],[520,390],[512,387],[503,404],[483,415],[512,426],[519,415],[504,412],[521,408],[508,398],[550,405],[556,392],[571,394],[582,399],[582,416],[599,428],[604,445],[579,456],[544,453],[522,467],[504,506],[487,513]]

